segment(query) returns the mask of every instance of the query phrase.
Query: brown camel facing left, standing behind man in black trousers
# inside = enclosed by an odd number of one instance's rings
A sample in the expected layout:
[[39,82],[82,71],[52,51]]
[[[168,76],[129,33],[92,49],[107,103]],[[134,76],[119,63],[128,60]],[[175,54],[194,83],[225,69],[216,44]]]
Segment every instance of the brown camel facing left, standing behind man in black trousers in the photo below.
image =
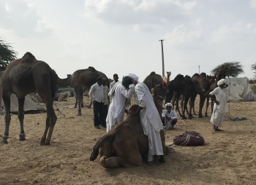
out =
[[[83,98],[83,91],[89,89],[92,84],[95,84],[97,81],[96,79],[99,76],[108,79],[108,77],[102,72],[97,71],[94,67],[89,67],[75,71],[71,76],[68,76],[67,79],[59,79],[59,86],[66,87],[71,85],[75,89],[76,100],[78,101],[78,116],[82,115],[81,99]],[[107,86],[109,87],[109,83]]]

